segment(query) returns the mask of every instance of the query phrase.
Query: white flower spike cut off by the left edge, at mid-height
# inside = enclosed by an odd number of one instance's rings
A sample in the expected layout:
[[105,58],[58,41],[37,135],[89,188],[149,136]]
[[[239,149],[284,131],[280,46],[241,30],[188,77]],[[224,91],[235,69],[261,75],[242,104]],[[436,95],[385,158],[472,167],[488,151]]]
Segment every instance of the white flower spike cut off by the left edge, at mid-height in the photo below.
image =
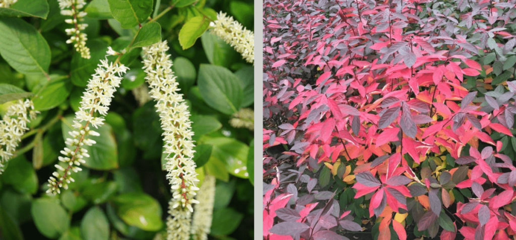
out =
[[0,120],[0,173],[4,171],[4,164],[9,160],[21,141],[21,137],[28,130],[27,123],[36,118],[39,113],[34,110],[32,101],[18,100],[10,105],[3,119]]

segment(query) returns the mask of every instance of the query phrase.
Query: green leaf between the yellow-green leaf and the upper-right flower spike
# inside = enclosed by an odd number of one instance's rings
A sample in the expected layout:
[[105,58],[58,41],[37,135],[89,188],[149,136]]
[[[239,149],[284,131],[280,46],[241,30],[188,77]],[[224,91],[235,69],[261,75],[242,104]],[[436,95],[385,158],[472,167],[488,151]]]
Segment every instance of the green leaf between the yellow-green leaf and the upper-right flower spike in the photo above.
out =
[[205,32],[201,36],[202,47],[209,63],[229,68],[235,60],[240,58],[240,53],[211,32]]

